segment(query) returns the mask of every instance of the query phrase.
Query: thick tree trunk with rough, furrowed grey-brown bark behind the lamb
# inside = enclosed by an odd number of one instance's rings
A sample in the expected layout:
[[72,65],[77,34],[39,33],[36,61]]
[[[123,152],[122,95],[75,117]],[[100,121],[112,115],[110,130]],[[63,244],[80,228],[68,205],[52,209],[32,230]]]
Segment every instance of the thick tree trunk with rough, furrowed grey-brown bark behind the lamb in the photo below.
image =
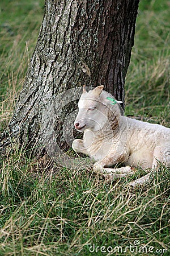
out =
[[44,142],[52,137],[59,148],[67,150],[73,137],[74,120],[71,126],[70,119],[83,84],[103,84],[117,100],[124,101],[138,3],[46,0],[36,48],[1,147],[10,134],[33,155],[43,155]]

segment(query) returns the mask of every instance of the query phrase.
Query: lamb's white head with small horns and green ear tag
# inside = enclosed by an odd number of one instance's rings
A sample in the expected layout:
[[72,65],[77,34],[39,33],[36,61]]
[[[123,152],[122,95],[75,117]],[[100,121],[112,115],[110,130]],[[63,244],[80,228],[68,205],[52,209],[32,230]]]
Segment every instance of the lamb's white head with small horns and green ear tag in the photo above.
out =
[[120,101],[116,101],[103,88],[104,86],[100,85],[94,90],[86,92],[86,89],[83,87],[83,94],[78,102],[79,112],[74,122],[76,130],[80,132],[86,129],[98,131],[107,122],[110,122],[110,115],[113,114],[114,118],[118,118],[120,115],[120,108],[117,104]]

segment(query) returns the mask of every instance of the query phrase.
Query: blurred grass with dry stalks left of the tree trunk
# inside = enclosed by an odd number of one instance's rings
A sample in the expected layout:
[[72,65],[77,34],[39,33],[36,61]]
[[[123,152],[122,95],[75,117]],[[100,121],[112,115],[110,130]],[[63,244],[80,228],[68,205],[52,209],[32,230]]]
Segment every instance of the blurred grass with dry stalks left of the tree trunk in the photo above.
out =
[[0,132],[11,119],[22,88],[39,34],[43,6],[43,0],[2,0],[0,3]]

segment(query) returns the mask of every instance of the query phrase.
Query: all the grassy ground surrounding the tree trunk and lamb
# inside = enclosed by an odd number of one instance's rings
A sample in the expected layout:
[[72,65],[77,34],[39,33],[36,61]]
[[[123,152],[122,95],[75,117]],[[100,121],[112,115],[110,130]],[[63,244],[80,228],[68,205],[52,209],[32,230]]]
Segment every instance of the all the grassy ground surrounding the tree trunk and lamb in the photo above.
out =
[[[126,114],[165,126],[169,6],[169,1],[141,1],[126,77]],[[43,2],[2,0],[0,7],[2,131],[35,47]],[[50,160],[12,151],[0,160],[0,255],[168,255],[168,168],[161,167],[151,184],[129,189],[131,177],[108,183],[91,170],[50,168]],[[142,174],[138,170],[136,176]],[[140,246],[146,246],[143,253]]]

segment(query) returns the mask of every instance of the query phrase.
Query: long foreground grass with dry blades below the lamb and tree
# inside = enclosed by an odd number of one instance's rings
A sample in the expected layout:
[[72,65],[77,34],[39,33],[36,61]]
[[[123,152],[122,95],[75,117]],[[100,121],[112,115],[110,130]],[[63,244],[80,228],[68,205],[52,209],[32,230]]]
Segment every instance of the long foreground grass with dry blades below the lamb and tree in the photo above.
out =
[[91,255],[93,244],[125,250],[135,240],[167,249],[168,170],[162,168],[156,185],[129,189],[126,179],[58,172],[23,153],[9,154],[2,171],[1,255]]

